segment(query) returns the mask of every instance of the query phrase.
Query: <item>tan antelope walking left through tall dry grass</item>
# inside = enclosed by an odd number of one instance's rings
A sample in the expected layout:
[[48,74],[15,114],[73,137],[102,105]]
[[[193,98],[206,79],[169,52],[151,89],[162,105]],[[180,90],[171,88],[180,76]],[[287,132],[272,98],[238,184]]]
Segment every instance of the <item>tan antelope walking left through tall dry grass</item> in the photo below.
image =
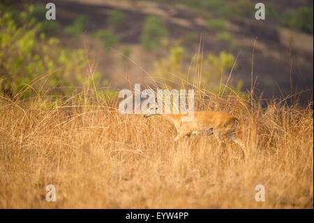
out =
[[237,143],[242,149],[244,149],[244,142],[237,136],[237,129],[239,120],[225,112],[216,111],[197,111],[194,112],[193,120],[190,122],[182,122],[181,117],[185,114],[158,114],[158,103],[152,104],[144,117],[151,117],[152,115],[161,115],[166,120],[174,124],[177,129],[178,135],[174,138],[174,141],[179,141],[184,136],[191,135],[211,135],[214,134],[216,140],[219,143],[219,147],[224,145],[222,142],[223,137],[227,137],[230,140]]

